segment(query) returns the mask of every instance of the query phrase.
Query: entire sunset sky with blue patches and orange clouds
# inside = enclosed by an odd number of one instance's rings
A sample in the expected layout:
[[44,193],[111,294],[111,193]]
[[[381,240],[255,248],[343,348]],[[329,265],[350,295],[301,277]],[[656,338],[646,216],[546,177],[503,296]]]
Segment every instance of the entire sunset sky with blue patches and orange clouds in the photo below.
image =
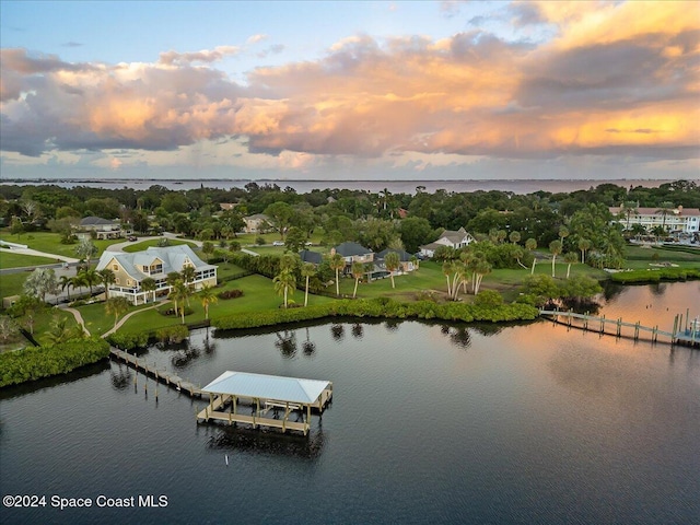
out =
[[700,1],[0,0],[0,176],[700,179]]

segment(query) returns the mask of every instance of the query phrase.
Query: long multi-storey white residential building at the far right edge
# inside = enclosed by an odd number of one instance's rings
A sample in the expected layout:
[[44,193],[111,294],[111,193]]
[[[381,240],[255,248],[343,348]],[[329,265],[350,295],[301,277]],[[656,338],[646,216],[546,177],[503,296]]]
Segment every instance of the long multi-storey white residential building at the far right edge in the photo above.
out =
[[615,220],[625,230],[631,230],[639,224],[651,233],[656,226],[661,226],[668,233],[693,235],[700,232],[700,209],[684,208],[679,206],[672,208],[664,214],[660,208],[633,208],[629,218],[625,205],[609,208]]

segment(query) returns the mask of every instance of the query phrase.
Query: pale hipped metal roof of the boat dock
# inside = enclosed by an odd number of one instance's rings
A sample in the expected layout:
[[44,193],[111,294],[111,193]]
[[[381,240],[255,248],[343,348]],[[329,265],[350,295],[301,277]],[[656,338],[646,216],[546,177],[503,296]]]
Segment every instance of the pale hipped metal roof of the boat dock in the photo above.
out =
[[241,397],[312,404],[330,382],[226,371],[201,390]]

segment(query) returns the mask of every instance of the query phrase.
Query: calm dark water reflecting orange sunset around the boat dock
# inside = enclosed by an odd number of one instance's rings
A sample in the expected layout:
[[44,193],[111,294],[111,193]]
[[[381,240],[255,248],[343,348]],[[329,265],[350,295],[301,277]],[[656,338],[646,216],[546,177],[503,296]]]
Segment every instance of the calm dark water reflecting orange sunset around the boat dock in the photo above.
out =
[[[680,308],[700,314],[698,296],[698,282],[626,288],[603,312],[666,328]],[[148,359],[201,384],[226,369],[330,380],[335,400],[303,439],[197,425],[203,401],[160,386],[156,402],[153,381],[147,393],[117,363],[4,390],[1,492],[48,500],[1,509],[2,523],[700,518],[698,350],[546,322],[405,322],[200,331]],[[167,506],[50,508],[51,495],[100,494]]]

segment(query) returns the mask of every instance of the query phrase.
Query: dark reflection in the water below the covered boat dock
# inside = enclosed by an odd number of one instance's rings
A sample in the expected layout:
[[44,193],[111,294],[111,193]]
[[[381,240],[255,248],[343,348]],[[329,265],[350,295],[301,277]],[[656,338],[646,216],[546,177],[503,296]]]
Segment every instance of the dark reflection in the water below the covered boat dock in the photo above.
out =
[[217,429],[207,446],[214,451],[246,452],[315,459],[324,450],[324,433],[320,430],[307,435],[283,434],[276,431],[245,428]]

